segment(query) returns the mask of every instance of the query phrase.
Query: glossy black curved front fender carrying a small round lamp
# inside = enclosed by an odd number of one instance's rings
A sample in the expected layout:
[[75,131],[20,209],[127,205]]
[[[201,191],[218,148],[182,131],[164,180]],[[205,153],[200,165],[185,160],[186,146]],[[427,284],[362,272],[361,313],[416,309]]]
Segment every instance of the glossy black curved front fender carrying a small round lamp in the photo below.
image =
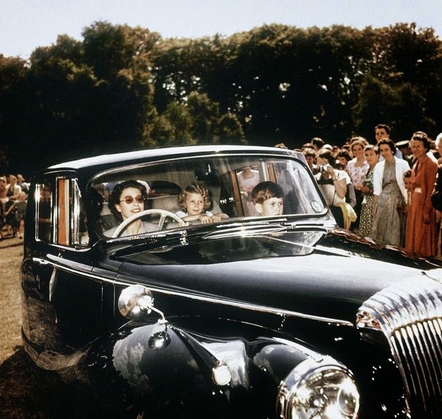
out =
[[182,324],[129,322],[95,341],[80,368],[104,411],[273,416],[281,380],[306,357],[321,355],[253,325],[233,326],[235,336],[222,339]]

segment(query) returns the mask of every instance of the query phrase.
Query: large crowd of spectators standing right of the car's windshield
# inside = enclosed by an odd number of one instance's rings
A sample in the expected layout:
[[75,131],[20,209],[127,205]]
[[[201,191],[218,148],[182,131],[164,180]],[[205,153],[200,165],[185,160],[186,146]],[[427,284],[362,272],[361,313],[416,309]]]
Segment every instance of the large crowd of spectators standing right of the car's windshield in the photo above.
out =
[[[297,150],[340,227],[419,257],[441,258],[442,212],[431,196],[442,176],[442,133],[433,141],[417,131],[396,143],[390,133],[378,124],[375,145],[361,136],[342,145],[313,138]],[[442,199],[442,180],[440,185]]]

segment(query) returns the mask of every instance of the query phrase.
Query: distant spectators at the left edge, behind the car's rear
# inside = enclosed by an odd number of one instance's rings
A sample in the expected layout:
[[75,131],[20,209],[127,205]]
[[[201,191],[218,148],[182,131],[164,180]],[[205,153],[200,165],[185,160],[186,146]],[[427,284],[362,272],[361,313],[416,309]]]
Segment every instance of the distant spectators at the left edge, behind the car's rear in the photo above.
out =
[[23,239],[29,185],[21,174],[0,176],[0,239]]

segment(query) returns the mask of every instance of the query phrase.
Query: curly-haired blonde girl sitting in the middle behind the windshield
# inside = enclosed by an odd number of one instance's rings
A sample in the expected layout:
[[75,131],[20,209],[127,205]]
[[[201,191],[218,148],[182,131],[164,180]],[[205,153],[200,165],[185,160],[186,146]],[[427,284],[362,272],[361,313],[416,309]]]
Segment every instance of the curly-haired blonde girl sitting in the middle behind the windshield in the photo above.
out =
[[201,223],[215,223],[225,217],[222,212],[213,214],[209,211],[211,207],[209,190],[200,185],[189,185],[178,196],[178,205],[181,210],[175,212],[183,221],[197,221]]

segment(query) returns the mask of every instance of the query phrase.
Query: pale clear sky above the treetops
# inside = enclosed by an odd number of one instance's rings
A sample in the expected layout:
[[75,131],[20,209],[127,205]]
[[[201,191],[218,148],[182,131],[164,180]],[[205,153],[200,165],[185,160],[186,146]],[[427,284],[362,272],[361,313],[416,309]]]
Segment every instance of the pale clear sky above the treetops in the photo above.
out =
[[0,0],[0,54],[28,59],[58,35],[81,39],[94,21],[178,38],[229,36],[272,23],[362,29],[415,22],[442,37],[441,15],[440,0]]

